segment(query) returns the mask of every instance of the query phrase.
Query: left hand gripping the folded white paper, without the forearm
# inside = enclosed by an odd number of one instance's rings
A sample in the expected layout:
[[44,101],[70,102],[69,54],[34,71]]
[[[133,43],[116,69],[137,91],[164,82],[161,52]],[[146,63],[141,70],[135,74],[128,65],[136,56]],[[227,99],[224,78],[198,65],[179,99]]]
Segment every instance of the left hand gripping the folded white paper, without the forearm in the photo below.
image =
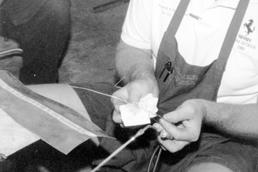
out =
[[112,97],[115,108],[113,114],[114,122],[122,124],[119,110],[121,105],[126,104],[126,102],[139,102],[142,97],[149,93],[152,93],[154,97],[158,97],[158,84],[154,79],[137,79],[116,91],[113,96],[119,97],[119,99]]

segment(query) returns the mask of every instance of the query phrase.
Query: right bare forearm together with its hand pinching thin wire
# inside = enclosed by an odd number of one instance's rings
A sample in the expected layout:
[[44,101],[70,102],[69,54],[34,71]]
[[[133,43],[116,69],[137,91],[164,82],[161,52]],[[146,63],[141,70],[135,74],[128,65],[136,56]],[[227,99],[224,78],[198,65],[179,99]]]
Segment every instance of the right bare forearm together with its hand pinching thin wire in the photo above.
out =
[[[187,100],[175,111],[169,112],[160,120],[162,127],[174,139],[159,141],[174,153],[199,139],[202,124],[214,127],[241,141],[258,143],[258,104],[224,104],[207,100]],[[244,140],[243,140],[244,139]]]

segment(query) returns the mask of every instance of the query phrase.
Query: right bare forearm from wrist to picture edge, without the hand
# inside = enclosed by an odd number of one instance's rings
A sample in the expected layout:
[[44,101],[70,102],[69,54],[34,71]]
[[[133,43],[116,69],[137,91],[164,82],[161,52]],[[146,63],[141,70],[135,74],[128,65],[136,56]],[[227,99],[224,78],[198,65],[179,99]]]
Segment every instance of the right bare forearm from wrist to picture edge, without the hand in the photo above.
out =
[[203,101],[204,123],[232,136],[258,141],[258,104],[223,104]]

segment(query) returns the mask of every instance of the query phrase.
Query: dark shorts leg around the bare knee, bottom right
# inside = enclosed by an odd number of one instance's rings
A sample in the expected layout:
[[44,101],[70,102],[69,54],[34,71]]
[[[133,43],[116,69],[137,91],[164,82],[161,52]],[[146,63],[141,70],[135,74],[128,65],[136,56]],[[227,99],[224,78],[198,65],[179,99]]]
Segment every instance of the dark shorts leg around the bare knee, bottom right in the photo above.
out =
[[225,142],[200,152],[190,166],[204,162],[223,164],[234,172],[257,171],[258,149],[245,143]]

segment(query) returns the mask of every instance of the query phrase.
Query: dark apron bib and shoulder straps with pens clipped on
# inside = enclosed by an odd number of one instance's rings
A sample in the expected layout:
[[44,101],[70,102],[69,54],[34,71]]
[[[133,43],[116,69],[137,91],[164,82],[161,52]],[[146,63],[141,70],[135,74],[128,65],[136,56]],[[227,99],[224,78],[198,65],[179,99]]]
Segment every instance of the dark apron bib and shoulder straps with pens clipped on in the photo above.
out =
[[[184,6],[185,9],[188,2],[189,0],[183,0],[179,6]],[[242,3],[248,4],[247,1]],[[174,111],[182,102],[189,99],[199,98],[216,101],[225,65],[245,14],[245,4],[242,7],[240,3],[236,9],[218,59],[204,67],[188,64],[178,52],[174,36],[181,22],[179,21],[181,19],[178,19],[180,18],[179,13],[181,13],[182,18],[184,10],[182,7],[177,8],[181,11],[174,15],[158,51],[155,77],[160,90],[159,114]]]

